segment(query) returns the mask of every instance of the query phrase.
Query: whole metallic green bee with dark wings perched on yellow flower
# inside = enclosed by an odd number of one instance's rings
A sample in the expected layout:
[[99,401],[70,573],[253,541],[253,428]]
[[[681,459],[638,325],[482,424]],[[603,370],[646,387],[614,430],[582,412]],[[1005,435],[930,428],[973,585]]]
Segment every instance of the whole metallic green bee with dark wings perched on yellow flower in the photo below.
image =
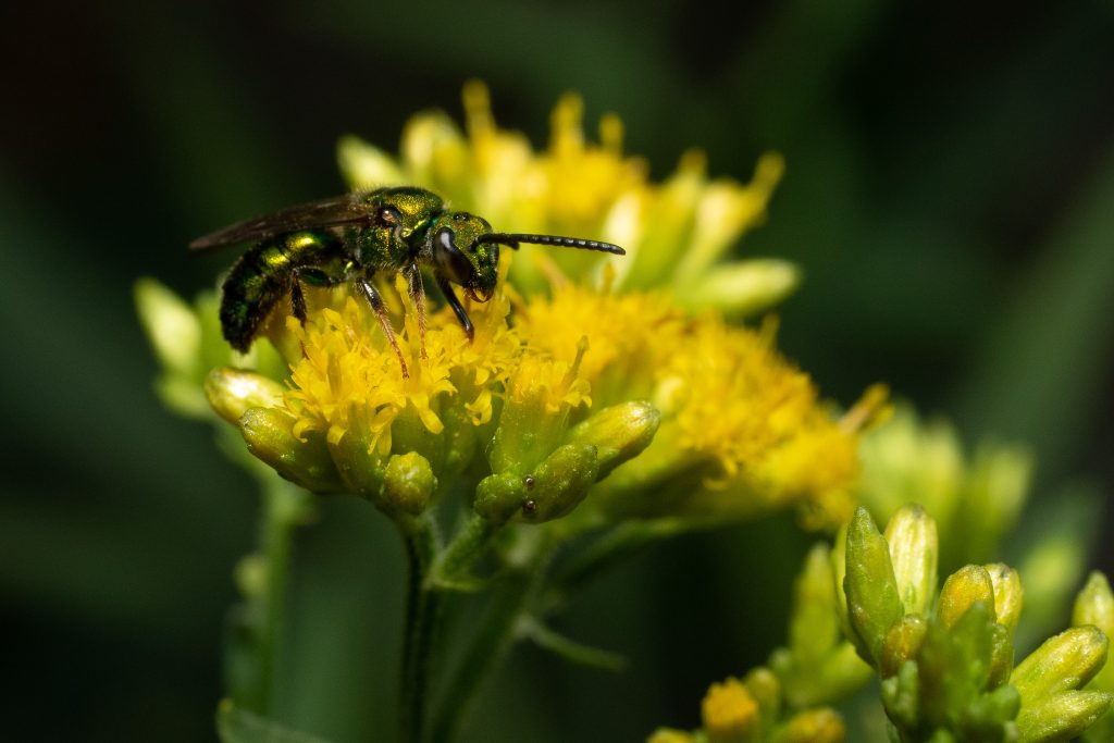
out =
[[495,294],[499,246],[558,245],[625,255],[618,245],[557,235],[492,232],[482,217],[451,212],[440,196],[401,186],[300,204],[225,227],[189,244],[195,251],[254,242],[222,285],[221,327],[233,348],[247,351],[271,311],[290,295],[294,316],[305,322],[302,283],[334,286],[352,282],[379,317],[407,375],[407,364],[375,274],[401,272],[426,334],[426,291],[421,268],[433,272],[444,300],[468,338],[472,323],[452,290],[460,284],[477,302]]

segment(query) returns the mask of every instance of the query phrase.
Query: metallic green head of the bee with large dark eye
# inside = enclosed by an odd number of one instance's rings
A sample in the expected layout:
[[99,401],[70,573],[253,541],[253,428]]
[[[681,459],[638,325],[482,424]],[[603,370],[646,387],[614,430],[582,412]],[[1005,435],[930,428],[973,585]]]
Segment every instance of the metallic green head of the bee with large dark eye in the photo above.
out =
[[477,302],[490,300],[498,281],[499,246],[480,239],[491,234],[487,219],[468,212],[450,212],[434,221],[429,234],[438,271]]

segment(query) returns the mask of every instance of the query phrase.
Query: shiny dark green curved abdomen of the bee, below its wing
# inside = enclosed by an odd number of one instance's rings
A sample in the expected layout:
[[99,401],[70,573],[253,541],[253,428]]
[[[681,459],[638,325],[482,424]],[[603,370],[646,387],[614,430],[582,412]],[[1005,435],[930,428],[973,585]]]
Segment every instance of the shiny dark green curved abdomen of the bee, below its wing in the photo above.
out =
[[294,268],[312,265],[333,247],[335,242],[328,234],[293,233],[244,253],[222,285],[221,329],[225,340],[246,352],[271,312],[290,296]]

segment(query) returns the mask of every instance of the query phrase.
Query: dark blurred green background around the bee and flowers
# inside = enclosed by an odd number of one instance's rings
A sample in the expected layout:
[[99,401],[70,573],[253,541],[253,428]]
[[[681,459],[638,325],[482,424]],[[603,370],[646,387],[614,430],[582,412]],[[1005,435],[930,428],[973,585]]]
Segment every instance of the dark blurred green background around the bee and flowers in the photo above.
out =
[[[656,177],[691,146],[740,179],[782,151],[770,221],[740,251],[803,267],[782,346],[825,394],[887,381],[968,441],[1027,441],[1051,507],[1114,489],[1114,3],[725,4],[9,3],[3,737],[213,739],[256,496],[209,429],[155,400],[131,284],[213,286],[233,256],[190,256],[190,238],[339,193],[340,135],[393,148],[420,109],[459,117],[469,77],[537,146],[580,91],[588,128],[622,115]],[[468,740],[695,725],[710,682],[783,639],[809,541],[784,517],[610,576],[559,628],[629,671],[519,648]],[[331,500],[295,560],[283,720],[392,740],[397,536]],[[1108,546],[1094,565],[1114,567]]]

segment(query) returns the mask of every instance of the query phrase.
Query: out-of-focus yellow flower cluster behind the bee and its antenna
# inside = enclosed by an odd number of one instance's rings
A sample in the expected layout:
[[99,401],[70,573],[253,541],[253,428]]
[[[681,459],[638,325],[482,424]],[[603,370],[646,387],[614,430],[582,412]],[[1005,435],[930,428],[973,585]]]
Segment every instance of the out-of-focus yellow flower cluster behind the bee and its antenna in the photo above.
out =
[[354,188],[407,183],[431,188],[455,208],[483,215],[497,229],[570,234],[623,245],[627,255],[524,247],[527,260],[511,278],[530,291],[555,276],[602,278],[615,272],[616,289],[667,287],[686,309],[714,306],[733,314],[769,307],[799,281],[778,260],[723,260],[765,218],[781,178],[780,155],[763,155],[749,184],[710,180],[704,156],[686,153],[663,184],[648,180],[642,158],[623,154],[623,124],[613,114],[599,123],[599,144],[588,140],[583,104],[558,101],[549,146],[535,153],[527,138],[496,126],[487,88],[465,86],[467,135],[441,113],[408,124],[398,162],[355,137],[340,144],[340,164]]

